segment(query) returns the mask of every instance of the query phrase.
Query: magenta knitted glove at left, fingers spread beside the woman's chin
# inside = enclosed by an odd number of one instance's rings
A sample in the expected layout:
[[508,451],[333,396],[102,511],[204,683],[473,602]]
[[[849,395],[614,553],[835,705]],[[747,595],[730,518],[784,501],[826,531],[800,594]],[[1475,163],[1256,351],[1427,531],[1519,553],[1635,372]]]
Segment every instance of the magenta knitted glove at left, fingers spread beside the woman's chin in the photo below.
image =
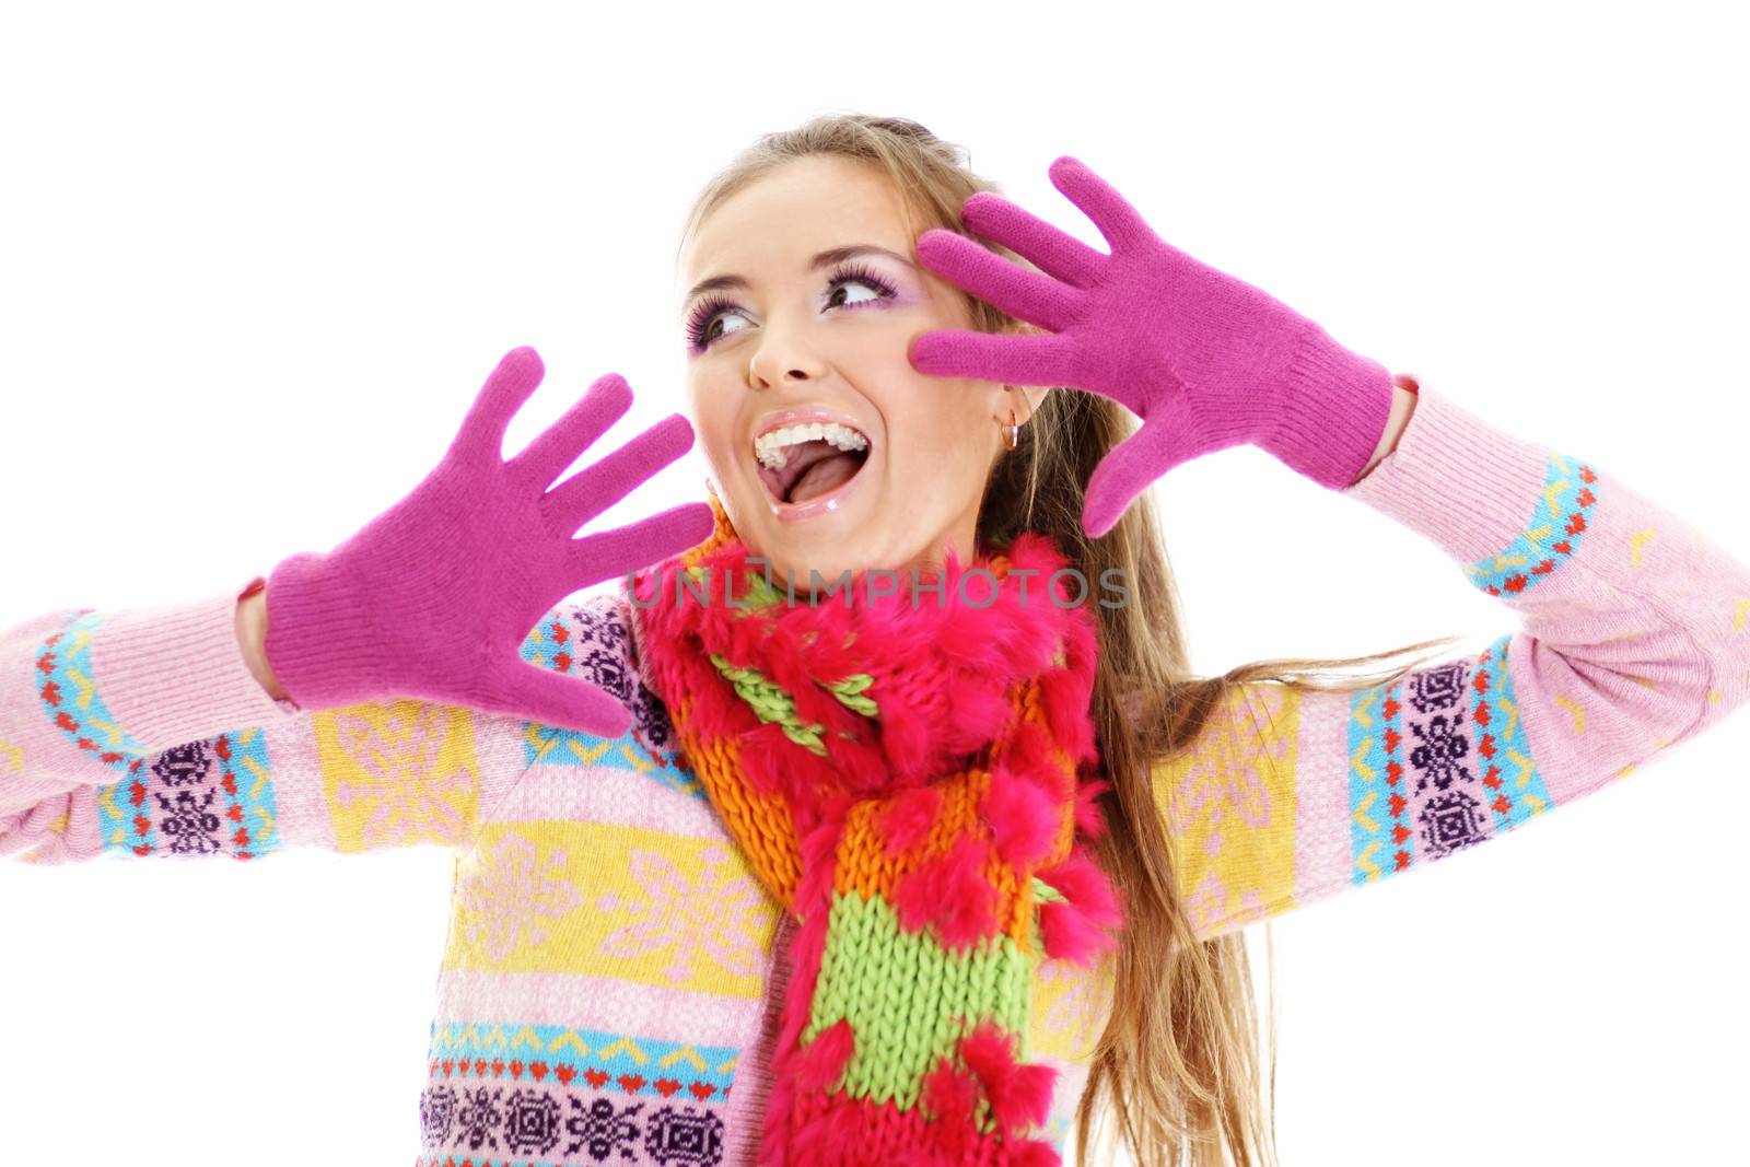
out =
[[670,415],[564,483],[548,485],[632,404],[607,373],[514,458],[511,416],[541,383],[514,348],[474,399],[443,462],[406,499],[326,555],[294,555],[268,577],[268,665],[304,709],[416,696],[618,737],[625,705],[522,658],[528,630],[572,591],[648,567],[710,535],[688,502],[572,539],[693,444]]

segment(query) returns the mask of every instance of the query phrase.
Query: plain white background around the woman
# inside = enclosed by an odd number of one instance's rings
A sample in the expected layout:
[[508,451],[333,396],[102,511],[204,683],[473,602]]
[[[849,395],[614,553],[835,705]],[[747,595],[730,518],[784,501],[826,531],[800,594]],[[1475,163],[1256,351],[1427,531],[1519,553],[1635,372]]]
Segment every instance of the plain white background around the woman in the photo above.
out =
[[[606,371],[639,394],[614,443],[681,409],[681,215],[817,110],[922,121],[1097,241],[1046,178],[1074,154],[1178,247],[1750,558],[1729,5],[632,7],[7,5],[0,621],[334,546],[516,345],[548,380],[508,450]],[[1516,626],[1256,450],[1160,495],[1200,672]],[[1284,1162],[1741,1155],[1746,751],[1740,716],[1281,917]],[[448,866],[0,866],[0,1155],[411,1160]]]

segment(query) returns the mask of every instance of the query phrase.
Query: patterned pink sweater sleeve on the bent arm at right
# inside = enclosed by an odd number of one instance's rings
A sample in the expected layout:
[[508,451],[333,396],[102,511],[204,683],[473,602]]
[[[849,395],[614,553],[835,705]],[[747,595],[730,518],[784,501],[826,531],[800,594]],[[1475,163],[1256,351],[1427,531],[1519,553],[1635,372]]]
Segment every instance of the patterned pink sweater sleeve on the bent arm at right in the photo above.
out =
[[1204,938],[1496,838],[1750,696],[1750,569],[1596,462],[1423,387],[1339,493],[1433,541],[1517,628],[1360,691],[1241,686],[1158,761]]

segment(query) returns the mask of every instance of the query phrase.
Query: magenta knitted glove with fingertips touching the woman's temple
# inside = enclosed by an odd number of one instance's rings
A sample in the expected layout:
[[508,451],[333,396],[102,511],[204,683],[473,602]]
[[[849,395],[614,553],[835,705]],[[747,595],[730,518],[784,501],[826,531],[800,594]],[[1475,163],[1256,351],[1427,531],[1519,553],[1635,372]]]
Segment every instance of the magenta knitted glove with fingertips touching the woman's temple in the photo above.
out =
[[1045,275],[942,229],[919,236],[917,257],[1050,332],[926,332],[912,343],[912,364],[936,376],[1087,388],[1141,416],[1088,479],[1082,527],[1094,537],[1152,481],[1228,446],[1256,444],[1332,490],[1353,483],[1386,430],[1391,373],[1162,240],[1074,157],[1059,157],[1050,173],[1111,254],[1001,196],[973,194],[966,226]]

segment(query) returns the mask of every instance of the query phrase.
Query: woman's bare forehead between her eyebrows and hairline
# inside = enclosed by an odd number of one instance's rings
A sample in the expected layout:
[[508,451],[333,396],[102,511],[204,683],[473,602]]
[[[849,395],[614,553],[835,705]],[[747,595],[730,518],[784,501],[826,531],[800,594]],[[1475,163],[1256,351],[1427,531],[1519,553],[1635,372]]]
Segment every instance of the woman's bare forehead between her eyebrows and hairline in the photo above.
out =
[[798,157],[718,205],[681,255],[682,287],[704,276],[800,269],[847,241],[912,254],[905,206],[878,163]]

